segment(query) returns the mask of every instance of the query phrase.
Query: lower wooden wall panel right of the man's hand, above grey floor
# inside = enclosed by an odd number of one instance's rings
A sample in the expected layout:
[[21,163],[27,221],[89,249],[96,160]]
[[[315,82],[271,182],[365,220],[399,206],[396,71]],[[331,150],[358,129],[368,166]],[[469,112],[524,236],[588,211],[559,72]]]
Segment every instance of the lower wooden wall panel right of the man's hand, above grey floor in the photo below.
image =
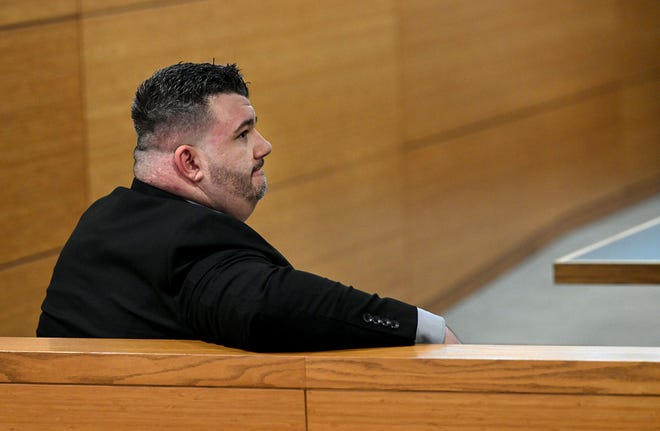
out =
[[616,192],[626,181],[619,97],[613,90],[407,153],[412,299],[440,306],[432,299]]

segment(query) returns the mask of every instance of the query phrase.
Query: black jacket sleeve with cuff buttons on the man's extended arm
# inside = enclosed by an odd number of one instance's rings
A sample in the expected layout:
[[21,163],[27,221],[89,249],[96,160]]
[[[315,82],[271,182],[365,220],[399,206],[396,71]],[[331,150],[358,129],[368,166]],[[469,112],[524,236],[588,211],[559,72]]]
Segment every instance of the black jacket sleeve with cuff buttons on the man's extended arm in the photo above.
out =
[[196,263],[178,303],[199,338],[252,351],[411,345],[417,330],[412,305],[273,264],[252,250]]

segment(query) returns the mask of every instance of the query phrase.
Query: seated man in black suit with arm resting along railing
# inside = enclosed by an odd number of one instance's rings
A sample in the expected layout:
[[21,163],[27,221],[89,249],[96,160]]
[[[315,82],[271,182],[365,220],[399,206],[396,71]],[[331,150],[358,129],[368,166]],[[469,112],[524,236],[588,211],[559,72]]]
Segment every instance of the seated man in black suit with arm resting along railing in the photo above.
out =
[[244,222],[271,144],[236,65],[176,64],[135,95],[135,179],[82,215],[45,337],[200,339],[254,351],[458,342],[442,317],[299,271]]

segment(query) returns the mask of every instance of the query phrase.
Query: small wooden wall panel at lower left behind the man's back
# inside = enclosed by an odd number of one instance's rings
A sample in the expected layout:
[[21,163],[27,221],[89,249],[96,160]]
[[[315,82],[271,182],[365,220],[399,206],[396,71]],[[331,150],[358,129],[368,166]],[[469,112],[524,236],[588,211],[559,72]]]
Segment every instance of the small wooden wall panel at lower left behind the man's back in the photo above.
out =
[[55,261],[52,256],[0,271],[0,336],[35,336]]

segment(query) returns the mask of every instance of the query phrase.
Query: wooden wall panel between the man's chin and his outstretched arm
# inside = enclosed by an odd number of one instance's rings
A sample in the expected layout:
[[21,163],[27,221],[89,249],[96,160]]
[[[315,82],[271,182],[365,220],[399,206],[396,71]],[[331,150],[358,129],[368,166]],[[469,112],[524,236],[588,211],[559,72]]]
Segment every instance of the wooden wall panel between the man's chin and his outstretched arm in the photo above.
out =
[[275,188],[249,223],[306,271],[405,295],[399,155]]

